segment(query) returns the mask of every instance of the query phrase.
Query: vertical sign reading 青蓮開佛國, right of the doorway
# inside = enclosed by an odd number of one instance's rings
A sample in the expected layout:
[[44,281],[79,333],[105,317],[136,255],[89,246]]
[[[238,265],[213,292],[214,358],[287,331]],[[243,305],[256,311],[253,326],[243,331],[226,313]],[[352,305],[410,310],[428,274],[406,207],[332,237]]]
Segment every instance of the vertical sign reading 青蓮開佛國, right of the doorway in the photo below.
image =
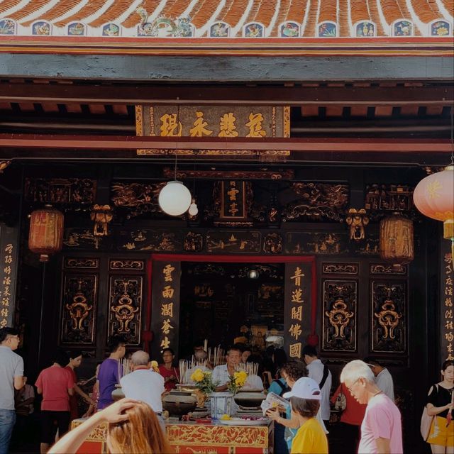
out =
[[284,349],[290,359],[301,360],[306,338],[314,331],[312,269],[311,262],[285,264]]

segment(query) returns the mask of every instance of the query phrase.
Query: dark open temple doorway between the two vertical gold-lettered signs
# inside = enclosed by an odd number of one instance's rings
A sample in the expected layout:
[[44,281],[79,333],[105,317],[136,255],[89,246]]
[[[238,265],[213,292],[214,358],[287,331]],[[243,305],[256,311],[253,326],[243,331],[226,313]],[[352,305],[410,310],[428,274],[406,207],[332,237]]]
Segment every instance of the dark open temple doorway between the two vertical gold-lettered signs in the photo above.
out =
[[180,283],[180,357],[205,338],[258,351],[283,343],[284,263],[182,262]]

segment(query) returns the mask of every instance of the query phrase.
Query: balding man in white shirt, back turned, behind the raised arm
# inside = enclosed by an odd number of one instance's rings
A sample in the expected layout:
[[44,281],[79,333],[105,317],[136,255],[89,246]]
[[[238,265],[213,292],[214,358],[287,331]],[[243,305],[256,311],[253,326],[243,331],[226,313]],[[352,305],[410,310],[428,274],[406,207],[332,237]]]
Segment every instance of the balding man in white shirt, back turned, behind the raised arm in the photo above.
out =
[[161,395],[165,392],[164,378],[162,375],[150,370],[148,366],[150,355],[143,350],[138,350],[131,356],[133,372],[121,377],[120,384],[126,397],[141,400],[155,412],[162,428],[165,430],[162,419]]

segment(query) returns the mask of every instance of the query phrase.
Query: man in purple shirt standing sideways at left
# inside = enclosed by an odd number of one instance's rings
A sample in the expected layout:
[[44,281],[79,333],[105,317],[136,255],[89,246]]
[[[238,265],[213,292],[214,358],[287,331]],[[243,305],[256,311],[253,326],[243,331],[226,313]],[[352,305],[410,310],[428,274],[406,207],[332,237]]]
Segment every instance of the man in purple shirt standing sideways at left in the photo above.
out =
[[109,406],[112,399],[112,391],[115,385],[120,382],[118,377],[118,368],[120,367],[118,360],[121,360],[126,353],[126,343],[122,336],[112,336],[109,341],[109,358],[106,358],[99,367],[99,400],[98,410],[102,410]]

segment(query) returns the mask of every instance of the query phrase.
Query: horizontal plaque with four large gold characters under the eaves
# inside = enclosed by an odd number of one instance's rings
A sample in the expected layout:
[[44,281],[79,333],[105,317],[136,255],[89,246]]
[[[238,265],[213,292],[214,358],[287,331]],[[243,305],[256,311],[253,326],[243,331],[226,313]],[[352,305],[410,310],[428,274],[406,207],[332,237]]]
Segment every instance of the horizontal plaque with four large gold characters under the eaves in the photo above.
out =
[[[288,138],[289,106],[135,106],[135,133],[139,136],[210,138]],[[138,155],[162,155],[168,150],[137,150]],[[250,152],[250,153],[248,153]],[[193,150],[169,153],[192,154]],[[198,155],[256,154],[255,150],[197,150]],[[288,156],[288,150],[267,150]]]

